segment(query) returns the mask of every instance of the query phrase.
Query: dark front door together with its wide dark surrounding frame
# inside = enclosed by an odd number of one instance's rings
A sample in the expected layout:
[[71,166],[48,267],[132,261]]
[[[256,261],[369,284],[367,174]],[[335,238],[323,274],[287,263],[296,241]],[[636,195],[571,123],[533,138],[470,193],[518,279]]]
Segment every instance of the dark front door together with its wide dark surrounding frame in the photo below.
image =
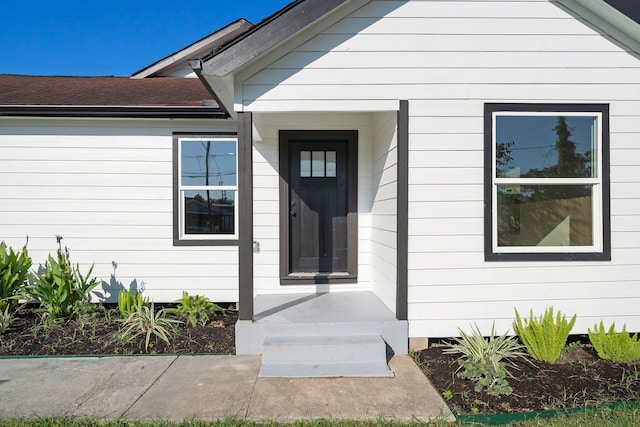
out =
[[353,131],[281,134],[287,276],[355,277],[355,144]]

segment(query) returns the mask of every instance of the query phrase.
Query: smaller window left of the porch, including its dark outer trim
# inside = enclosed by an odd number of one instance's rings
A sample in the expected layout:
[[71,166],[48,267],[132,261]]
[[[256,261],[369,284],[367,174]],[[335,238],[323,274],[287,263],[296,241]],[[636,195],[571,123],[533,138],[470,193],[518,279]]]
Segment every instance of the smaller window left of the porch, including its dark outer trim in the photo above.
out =
[[177,244],[237,240],[237,147],[235,136],[174,135]]

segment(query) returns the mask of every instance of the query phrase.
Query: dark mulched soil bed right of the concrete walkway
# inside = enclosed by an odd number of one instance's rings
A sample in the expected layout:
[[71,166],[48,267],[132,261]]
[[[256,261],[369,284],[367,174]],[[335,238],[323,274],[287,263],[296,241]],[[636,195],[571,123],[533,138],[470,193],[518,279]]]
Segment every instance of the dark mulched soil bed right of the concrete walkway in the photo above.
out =
[[434,346],[416,354],[431,383],[453,411],[465,413],[530,412],[640,400],[640,363],[600,359],[588,344],[569,348],[555,364],[516,361],[508,368],[510,395],[476,392],[475,384],[456,376],[457,355]]

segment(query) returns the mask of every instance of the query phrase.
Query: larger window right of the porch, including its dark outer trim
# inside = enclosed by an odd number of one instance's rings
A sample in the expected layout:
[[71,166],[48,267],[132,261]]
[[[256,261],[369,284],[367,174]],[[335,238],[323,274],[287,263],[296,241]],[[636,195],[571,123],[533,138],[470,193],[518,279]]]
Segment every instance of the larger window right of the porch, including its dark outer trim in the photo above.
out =
[[485,105],[485,258],[610,260],[607,105]]

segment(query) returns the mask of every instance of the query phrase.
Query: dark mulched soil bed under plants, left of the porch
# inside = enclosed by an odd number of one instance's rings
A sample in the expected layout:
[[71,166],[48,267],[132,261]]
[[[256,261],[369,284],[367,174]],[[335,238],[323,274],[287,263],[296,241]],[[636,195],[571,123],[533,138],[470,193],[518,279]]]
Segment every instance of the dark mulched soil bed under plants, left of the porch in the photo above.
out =
[[[158,308],[157,308],[158,309]],[[155,339],[145,350],[145,337],[119,339],[123,323],[116,307],[100,307],[70,320],[46,321],[32,309],[19,312],[0,335],[0,356],[111,355],[111,354],[219,354],[235,351],[238,315],[227,309],[204,326],[184,322],[170,335],[169,344]]]

